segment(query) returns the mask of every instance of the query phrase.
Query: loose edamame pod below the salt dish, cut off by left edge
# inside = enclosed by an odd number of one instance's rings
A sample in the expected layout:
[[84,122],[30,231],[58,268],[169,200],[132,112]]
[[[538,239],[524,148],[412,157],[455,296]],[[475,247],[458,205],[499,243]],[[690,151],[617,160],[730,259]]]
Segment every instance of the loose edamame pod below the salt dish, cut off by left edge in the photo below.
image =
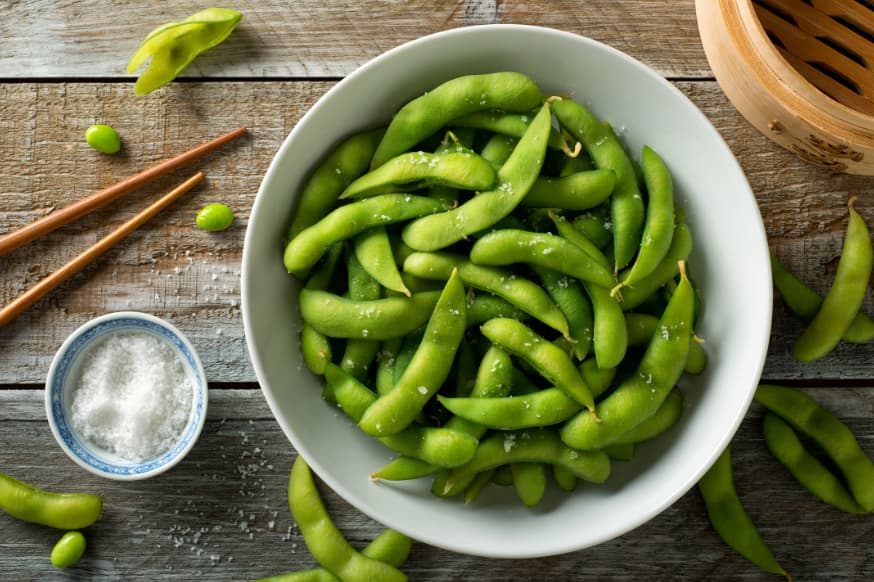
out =
[[0,511],[57,529],[82,529],[100,517],[103,498],[90,493],[50,493],[0,473]]

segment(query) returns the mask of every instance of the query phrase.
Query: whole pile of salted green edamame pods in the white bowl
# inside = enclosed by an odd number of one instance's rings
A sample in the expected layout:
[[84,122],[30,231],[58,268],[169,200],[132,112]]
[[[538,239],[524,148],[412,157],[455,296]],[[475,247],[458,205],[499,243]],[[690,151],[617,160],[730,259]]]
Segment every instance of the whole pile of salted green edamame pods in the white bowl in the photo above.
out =
[[706,355],[666,163],[514,72],[451,79],[327,153],[284,264],[324,397],[400,453],[374,478],[433,476],[536,504],[680,417]]

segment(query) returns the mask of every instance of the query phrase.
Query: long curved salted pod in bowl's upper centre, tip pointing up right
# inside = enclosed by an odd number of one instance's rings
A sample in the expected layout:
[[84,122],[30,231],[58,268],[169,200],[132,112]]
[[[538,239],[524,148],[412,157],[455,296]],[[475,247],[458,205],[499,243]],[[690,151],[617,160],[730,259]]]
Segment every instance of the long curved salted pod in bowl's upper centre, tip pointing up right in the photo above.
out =
[[544,105],[513,153],[498,169],[498,186],[482,192],[461,206],[423,216],[404,227],[401,236],[410,247],[434,251],[479,232],[510,214],[525,198],[543,165],[551,118]]

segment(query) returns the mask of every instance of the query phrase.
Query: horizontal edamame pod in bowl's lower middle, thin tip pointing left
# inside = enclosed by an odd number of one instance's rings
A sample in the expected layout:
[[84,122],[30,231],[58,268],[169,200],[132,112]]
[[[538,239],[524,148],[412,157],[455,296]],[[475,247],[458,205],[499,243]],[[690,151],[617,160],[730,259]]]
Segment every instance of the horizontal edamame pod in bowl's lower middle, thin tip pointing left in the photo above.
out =
[[518,430],[564,422],[582,406],[558,388],[505,398],[447,398],[440,404],[452,414],[488,428]]

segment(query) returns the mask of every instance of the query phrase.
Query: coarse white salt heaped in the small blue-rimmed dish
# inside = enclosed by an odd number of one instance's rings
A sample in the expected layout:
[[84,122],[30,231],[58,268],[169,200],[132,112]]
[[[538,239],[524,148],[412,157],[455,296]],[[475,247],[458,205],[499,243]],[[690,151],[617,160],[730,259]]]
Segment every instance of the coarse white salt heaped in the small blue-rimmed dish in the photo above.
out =
[[70,422],[94,445],[140,463],[179,439],[193,388],[181,357],[165,340],[147,332],[114,333],[85,355],[71,394]]

